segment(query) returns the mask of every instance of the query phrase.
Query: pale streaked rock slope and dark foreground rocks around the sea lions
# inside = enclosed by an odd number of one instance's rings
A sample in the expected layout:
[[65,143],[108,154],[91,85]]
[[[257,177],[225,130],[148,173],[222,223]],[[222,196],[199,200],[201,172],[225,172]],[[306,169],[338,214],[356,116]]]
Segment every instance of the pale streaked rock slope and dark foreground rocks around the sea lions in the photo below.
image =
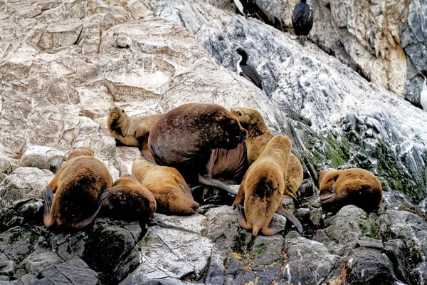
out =
[[[423,110],[314,44],[302,48],[290,33],[239,16],[226,1],[0,1],[0,16],[0,282],[426,281]],[[236,74],[238,46],[264,92]],[[80,232],[44,228],[41,201],[31,198],[73,147],[93,148],[114,179],[139,157],[108,135],[111,105],[149,115],[188,102],[257,108],[270,130],[292,140],[305,169],[307,197],[296,211],[302,236],[286,228],[253,238],[228,206],[190,217],[155,214],[147,229],[105,217]],[[317,172],[351,166],[379,177],[383,206],[369,215],[354,206],[322,213]]]

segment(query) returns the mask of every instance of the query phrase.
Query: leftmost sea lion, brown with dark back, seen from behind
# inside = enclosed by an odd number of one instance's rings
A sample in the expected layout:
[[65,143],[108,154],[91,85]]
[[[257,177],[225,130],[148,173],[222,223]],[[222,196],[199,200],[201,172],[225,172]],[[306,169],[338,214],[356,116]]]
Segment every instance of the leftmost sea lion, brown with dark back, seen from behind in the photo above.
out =
[[[73,150],[70,155],[76,152],[79,150]],[[110,172],[96,157],[80,155],[71,158],[41,192],[45,226],[87,226],[95,219],[111,185]],[[55,197],[53,192],[56,192]]]

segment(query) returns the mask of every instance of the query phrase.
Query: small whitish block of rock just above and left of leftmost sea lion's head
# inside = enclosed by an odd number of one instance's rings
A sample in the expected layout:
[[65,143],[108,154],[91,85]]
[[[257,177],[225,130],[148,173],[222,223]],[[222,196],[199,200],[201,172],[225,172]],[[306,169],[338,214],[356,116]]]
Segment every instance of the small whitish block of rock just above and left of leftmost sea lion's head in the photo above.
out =
[[56,172],[65,161],[65,153],[53,147],[33,145],[26,148],[19,162],[21,167],[37,167]]

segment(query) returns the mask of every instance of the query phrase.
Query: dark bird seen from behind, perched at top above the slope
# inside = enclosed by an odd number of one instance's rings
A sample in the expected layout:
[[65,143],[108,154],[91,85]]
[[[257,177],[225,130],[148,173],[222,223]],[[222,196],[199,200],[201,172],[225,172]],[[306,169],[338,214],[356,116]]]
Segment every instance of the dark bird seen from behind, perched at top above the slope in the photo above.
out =
[[313,26],[312,9],[306,2],[307,0],[301,0],[292,11],[292,26],[302,46]]

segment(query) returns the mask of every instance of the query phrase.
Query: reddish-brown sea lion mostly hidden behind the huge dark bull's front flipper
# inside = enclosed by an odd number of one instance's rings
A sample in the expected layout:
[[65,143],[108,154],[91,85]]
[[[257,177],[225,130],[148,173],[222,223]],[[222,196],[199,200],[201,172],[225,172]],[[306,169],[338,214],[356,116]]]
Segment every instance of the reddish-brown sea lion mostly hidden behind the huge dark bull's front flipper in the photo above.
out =
[[231,150],[214,149],[212,178],[226,185],[241,184],[248,167],[248,155],[244,142]]

